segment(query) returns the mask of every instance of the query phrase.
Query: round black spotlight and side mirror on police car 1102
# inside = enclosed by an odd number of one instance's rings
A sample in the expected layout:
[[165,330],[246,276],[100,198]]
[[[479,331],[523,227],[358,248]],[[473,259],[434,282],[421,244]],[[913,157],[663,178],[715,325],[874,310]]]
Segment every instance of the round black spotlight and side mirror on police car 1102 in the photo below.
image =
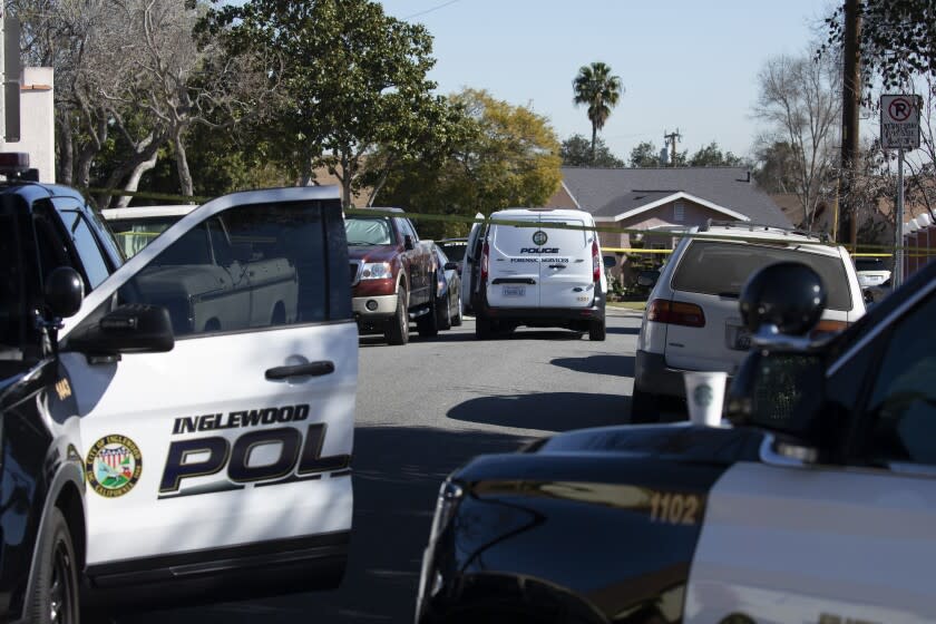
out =
[[815,460],[822,447],[823,343],[809,332],[825,305],[822,280],[798,262],[761,269],[739,298],[752,349],[731,383],[725,415],[734,425],[778,433],[774,450],[799,460]]

